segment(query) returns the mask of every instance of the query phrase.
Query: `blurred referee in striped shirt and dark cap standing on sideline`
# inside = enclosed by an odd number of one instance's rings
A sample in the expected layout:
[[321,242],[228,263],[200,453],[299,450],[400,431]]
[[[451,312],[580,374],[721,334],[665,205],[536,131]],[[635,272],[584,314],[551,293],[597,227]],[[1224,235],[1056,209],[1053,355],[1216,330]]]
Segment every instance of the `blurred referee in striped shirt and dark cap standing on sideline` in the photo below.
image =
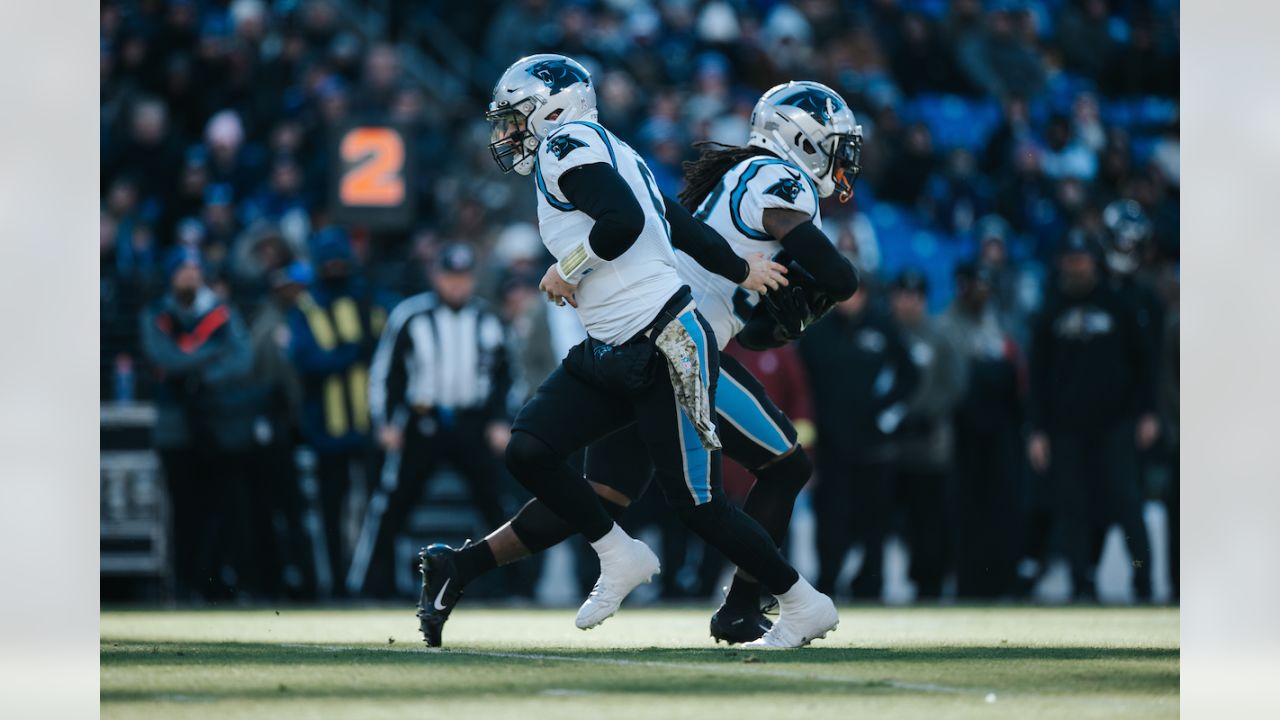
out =
[[507,327],[472,295],[475,264],[470,246],[444,246],[434,292],[396,306],[374,354],[369,405],[388,464],[356,544],[352,593],[394,594],[394,538],[442,461],[466,479],[486,527],[507,519],[498,487],[511,437],[512,359]]

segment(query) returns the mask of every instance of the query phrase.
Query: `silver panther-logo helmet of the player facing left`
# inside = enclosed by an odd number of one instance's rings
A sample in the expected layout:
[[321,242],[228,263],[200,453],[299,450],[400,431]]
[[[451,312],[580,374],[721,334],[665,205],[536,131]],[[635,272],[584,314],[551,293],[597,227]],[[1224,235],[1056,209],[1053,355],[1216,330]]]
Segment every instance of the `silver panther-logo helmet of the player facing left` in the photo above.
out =
[[552,131],[571,120],[595,119],[595,85],[572,58],[521,58],[493,86],[485,119],[493,126],[489,151],[498,167],[527,176],[538,146]]

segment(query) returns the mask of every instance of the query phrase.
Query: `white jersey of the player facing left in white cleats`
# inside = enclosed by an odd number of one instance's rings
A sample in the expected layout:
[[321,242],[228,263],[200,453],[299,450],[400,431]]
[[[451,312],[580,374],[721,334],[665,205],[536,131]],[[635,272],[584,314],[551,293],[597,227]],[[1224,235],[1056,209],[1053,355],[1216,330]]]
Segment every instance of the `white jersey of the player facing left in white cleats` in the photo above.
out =
[[635,243],[584,277],[575,293],[577,314],[588,334],[620,343],[652,323],[685,283],[676,272],[671,227],[653,173],[635,150],[593,122],[564,123],[538,150],[534,176],[543,245],[558,261],[590,237],[595,220],[564,197],[559,178],[570,168],[593,163],[613,165],[645,215],[644,231]]

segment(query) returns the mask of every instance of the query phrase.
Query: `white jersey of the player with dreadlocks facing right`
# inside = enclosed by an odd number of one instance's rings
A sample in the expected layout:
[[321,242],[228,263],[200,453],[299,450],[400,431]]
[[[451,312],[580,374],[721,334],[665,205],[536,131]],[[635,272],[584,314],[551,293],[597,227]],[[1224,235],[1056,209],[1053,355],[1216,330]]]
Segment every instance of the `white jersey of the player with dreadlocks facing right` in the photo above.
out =
[[[694,217],[723,237],[742,258],[764,252],[774,258],[782,243],[764,232],[764,210],[781,208],[797,210],[813,218],[822,229],[818,213],[818,188],[795,165],[760,155],[733,165],[698,206]],[[721,350],[751,318],[760,293],[744,290],[703,268],[687,254],[678,251],[680,277],[694,291],[698,310],[710,323]]]

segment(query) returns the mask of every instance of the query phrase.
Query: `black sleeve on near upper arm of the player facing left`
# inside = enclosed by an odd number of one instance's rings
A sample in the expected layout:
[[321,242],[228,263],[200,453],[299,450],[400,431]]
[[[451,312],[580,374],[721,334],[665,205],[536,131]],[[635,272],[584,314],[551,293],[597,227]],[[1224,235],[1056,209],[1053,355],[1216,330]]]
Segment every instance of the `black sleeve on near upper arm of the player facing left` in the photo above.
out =
[[622,176],[605,163],[572,168],[561,176],[561,192],[595,220],[588,242],[604,260],[626,252],[644,231],[644,211]]

